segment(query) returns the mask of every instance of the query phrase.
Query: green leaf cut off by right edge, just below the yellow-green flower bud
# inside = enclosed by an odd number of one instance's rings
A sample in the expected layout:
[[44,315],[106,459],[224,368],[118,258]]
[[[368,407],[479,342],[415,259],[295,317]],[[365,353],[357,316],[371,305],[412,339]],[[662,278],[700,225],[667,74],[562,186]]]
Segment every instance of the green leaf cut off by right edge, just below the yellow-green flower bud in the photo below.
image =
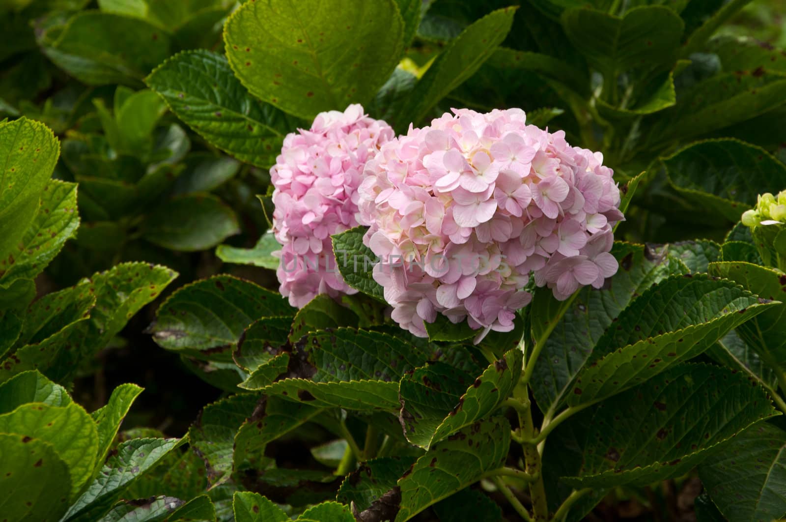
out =
[[[767,300],[786,298],[786,275],[751,263],[711,263],[710,274],[729,278]],[[736,333],[773,368],[786,368],[786,304],[778,303],[737,326]]]

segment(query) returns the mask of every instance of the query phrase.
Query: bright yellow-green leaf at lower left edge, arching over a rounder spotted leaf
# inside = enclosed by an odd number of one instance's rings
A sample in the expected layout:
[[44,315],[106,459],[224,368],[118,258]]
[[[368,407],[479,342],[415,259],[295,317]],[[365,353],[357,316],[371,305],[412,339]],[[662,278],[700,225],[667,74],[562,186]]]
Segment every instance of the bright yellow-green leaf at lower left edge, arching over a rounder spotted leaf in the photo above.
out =
[[93,473],[98,447],[96,425],[78,404],[23,404],[9,414],[0,415],[0,433],[16,433],[24,439],[49,443],[68,465],[70,498],[75,498]]

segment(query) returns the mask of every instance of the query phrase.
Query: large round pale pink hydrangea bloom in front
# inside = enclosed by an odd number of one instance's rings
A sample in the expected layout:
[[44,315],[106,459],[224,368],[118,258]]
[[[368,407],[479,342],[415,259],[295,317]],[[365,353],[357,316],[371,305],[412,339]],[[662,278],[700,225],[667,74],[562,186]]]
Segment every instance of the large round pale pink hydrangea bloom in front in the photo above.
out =
[[478,342],[513,328],[531,274],[559,300],[600,288],[618,268],[608,252],[623,214],[601,153],[527,125],[520,109],[453,112],[365,165],[359,221],[395,321],[426,336],[444,314],[481,329]]

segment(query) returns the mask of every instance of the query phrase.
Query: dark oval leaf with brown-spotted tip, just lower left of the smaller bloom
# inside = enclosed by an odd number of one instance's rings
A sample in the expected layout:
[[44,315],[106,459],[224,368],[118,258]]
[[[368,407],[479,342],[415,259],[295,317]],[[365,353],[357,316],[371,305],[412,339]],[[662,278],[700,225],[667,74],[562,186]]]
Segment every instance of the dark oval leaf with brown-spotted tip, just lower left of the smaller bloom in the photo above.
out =
[[174,292],[159,308],[150,332],[167,350],[207,350],[236,344],[256,318],[294,314],[276,293],[251,281],[218,275]]

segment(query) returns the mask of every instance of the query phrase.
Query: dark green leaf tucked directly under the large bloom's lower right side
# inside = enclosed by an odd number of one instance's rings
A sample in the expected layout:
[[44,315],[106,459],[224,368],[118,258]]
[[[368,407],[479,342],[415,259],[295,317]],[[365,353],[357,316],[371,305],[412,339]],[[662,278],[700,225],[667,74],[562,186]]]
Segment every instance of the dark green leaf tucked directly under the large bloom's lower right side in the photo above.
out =
[[[604,331],[651,285],[685,271],[666,248],[651,248],[619,241],[612,254],[619,270],[608,288],[581,289],[567,307],[552,292],[538,290],[529,305],[532,337],[544,343],[534,366],[531,385],[538,407],[553,414],[570,391],[570,384],[598,345]],[[563,311],[563,314],[557,313]]]

